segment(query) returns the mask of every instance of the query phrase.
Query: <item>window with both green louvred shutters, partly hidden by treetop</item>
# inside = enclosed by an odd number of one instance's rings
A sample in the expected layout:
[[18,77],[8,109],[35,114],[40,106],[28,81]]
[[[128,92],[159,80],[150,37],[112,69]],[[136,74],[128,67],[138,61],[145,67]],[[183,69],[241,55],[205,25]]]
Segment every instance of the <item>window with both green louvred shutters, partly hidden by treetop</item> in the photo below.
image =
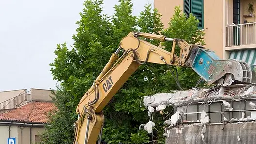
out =
[[198,28],[204,29],[204,0],[184,0],[184,13],[189,17],[192,13],[198,20]]

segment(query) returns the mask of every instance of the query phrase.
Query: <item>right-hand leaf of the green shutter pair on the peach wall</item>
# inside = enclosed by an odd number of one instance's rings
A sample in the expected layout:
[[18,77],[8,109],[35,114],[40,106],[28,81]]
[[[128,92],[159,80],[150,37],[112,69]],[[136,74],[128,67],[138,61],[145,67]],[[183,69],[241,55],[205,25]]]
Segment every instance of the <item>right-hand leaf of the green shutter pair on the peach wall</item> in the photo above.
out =
[[191,0],[191,13],[199,20],[198,28],[204,28],[204,0]]

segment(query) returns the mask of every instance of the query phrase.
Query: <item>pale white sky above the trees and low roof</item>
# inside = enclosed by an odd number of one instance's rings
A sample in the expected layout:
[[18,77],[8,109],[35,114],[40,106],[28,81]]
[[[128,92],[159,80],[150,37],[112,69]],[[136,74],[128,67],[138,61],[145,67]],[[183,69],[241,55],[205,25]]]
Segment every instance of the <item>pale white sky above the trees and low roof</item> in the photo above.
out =
[[[133,0],[137,15],[146,3]],[[56,44],[73,44],[84,0],[0,0],[0,91],[55,88],[49,64]],[[112,15],[118,0],[104,0]]]

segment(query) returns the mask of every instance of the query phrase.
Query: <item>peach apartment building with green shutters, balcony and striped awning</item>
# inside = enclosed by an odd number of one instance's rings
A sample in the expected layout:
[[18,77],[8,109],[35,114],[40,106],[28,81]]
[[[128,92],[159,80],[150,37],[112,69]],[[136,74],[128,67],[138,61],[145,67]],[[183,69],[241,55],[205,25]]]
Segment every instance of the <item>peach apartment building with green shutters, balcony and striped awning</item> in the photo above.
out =
[[192,13],[200,20],[205,32],[205,47],[222,59],[239,59],[256,66],[256,19],[248,12],[248,4],[256,0],[154,0],[154,7],[163,15],[168,27],[174,7],[185,14]]

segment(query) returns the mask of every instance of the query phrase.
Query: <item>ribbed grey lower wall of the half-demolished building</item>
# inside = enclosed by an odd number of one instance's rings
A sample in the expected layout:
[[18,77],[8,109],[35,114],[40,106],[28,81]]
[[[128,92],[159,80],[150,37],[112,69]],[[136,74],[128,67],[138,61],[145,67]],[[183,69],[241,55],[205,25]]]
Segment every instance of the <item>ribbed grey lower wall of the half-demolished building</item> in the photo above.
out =
[[[206,125],[205,142],[202,141],[203,126],[186,125],[169,129],[166,144],[256,144],[256,123]],[[238,141],[239,136],[240,141]]]

